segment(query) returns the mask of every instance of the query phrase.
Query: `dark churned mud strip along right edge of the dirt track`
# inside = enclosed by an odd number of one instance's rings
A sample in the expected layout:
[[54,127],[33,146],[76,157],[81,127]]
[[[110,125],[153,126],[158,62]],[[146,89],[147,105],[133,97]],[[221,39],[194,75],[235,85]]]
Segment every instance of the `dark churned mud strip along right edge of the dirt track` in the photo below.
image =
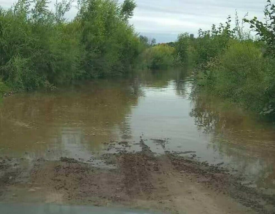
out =
[[167,152],[167,156],[176,170],[190,174],[191,178],[204,184],[207,188],[227,194],[245,207],[250,207],[259,213],[275,213],[275,195],[264,194],[256,188],[242,184],[243,178],[236,177],[221,169],[218,164],[209,166],[188,160]]

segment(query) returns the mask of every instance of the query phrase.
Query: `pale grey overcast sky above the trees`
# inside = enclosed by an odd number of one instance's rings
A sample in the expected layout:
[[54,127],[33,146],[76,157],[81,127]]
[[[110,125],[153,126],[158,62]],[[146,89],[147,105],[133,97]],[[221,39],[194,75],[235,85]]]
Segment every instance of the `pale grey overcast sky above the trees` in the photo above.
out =
[[[13,2],[16,0],[0,0],[0,5],[8,8]],[[235,9],[240,18],[246,12],[249,17],[262,18],[266,0],[136,0],[136,3],[131,19],[136,31],[156,38],[157,42],[169,42],[181,32],[196,35],[199,28],[207,30],[212,24],[225,22],[228,15],[234,17]],[[72,8],[67,17],[71,19],[75,13]]]

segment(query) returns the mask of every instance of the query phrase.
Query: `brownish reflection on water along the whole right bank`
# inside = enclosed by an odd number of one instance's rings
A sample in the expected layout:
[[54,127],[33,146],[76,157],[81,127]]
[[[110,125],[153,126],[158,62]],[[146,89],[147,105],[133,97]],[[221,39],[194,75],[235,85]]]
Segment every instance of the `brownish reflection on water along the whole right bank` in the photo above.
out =
[[275,132],[249,113],[206,94],[193,94],[199,129],[212,134],[208,148],[259,186],[275,189]]

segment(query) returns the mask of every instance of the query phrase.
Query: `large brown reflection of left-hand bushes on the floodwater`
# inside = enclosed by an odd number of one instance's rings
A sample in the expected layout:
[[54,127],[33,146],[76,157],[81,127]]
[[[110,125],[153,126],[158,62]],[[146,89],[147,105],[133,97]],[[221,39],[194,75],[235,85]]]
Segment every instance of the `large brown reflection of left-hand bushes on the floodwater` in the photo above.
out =
[[[129,85],[129,81],[98,80],[64,91],[9,97],[0,109],[1,143],[7,147],[14,143],[12,149],[21,152],[35,148],[36,142],[43,142],[40,149],[57,144],[56,139],[69,139],[71,144],[76,136],[76,144],[100,148],[101,142],[116,137],[112,128],[121,126],[138,102]],[[75,134],[80,128],[82,137]]]

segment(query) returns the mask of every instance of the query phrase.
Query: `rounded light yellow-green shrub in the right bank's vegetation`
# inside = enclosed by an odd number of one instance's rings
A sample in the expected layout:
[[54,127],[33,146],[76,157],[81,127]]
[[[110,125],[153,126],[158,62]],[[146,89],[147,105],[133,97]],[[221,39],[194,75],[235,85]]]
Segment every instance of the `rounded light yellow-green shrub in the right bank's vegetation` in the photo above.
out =
[[257,108],[264,91],[264,58],[250,41],[231,41],[215,69],[215,90],[219,96]]

